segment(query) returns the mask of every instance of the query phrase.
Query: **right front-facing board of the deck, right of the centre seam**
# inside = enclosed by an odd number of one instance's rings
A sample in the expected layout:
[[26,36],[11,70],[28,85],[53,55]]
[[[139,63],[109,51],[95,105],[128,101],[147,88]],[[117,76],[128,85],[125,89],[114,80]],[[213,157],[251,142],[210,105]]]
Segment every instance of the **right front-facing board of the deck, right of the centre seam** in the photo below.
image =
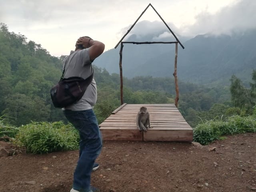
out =
[[144,141],[193,141],[193,130],[148,130],[143,134]]

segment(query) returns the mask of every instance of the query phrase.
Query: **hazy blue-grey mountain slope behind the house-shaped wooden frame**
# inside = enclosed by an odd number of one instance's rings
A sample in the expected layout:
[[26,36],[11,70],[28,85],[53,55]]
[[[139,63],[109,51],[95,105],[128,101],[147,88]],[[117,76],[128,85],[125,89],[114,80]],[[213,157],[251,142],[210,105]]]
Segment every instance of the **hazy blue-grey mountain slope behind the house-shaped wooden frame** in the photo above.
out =
[[[256,29],[241,34],[214,36],[198,35],[178,45],[178,78],[197,84],[229,84],[232,74],[248,83],[256,69]],[[151,40],[150,40],[151,39]],[[152,36],[131,35],[126,41],[152,41]],[[159,39],[157,41],[160,41]],[[161,41],[173,41],[162,39]],[[110,73],[120,73],[120,45],[95,60],[94,64]],[[123,76],[172,77],[175,44],[124,44]]]

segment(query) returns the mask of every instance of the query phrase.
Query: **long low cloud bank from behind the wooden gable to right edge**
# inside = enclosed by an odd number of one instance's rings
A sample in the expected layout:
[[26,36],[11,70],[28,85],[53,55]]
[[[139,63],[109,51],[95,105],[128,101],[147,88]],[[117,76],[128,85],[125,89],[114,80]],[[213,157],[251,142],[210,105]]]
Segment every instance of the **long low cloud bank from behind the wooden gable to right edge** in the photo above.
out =
[[[173,23],[168,23],[168,26],[178,38],[180,36],[193,37],[198,34],[231,35],[234,32],[244,32],[256,28],[255,10],[256,0],[236,0],[233,4],[225,6],[215,13],[210,13],[207,9],[200,12],[196,15],[194,24],[178,28]],[[130,26],[122,28],[118,36],[121,38],[121,34],[124,35]],[[144,20],[136,23],[124,40],[134,34],[136,34],[136,38],[147,36],[148,41],[173,39],[162,20],[154,22]]]

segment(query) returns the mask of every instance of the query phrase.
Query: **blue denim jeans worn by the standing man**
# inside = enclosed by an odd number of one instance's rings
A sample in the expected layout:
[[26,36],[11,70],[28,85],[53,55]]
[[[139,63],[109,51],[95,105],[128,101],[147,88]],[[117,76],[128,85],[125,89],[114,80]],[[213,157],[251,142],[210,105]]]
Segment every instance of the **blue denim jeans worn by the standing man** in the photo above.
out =
[[64,110],[63,113],[80,134],[79,159],[74,171],[73,189],[90,192],[92,168],[102,149],[102,137],[96,116],[92,109]]

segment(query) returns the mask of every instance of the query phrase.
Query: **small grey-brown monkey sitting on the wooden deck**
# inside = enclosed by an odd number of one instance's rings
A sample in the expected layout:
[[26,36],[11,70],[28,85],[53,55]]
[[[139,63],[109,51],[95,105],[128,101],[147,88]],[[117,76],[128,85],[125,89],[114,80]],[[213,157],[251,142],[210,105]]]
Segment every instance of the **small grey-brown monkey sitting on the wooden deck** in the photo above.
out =
[[148,112],[145,106],[142,106],[140,108],[140,111],[136,116],[136,124],[138,126],[139,131],[147,131],[148,128],[152,128],[150,126],[150,113]]

